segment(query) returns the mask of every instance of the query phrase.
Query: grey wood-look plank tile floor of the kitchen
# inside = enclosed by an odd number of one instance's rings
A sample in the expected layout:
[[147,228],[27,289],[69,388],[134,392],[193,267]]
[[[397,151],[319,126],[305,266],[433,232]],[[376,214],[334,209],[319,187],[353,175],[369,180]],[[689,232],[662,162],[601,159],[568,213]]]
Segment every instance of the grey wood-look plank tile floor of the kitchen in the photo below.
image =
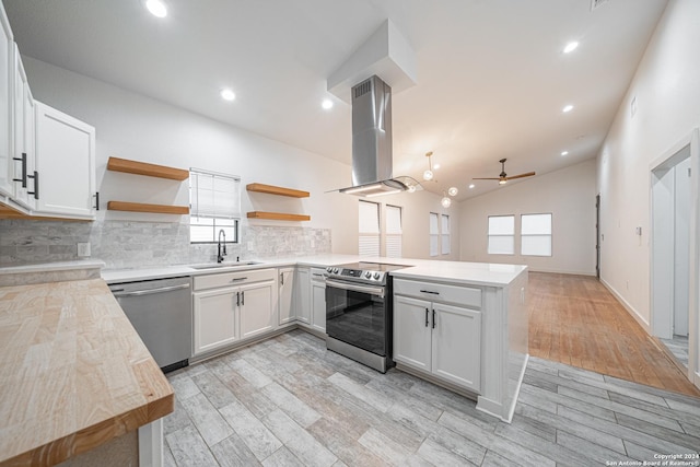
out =
[[700,446],[700,399],[537,358],[511,424],[302,330],[168,378],[166,466],[595,466]]

